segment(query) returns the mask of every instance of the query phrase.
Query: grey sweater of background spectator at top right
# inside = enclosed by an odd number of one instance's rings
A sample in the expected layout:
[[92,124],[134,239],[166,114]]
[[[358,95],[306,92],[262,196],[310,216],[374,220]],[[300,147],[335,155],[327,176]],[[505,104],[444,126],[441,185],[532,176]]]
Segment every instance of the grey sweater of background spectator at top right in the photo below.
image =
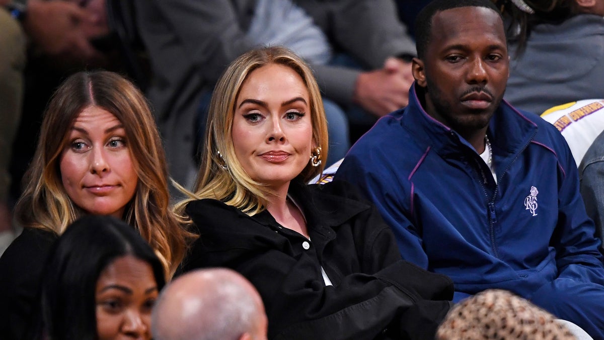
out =
[[505,99],[541,114],[552,106],[604,98],[604,18],[577,15],[560,25],[537,25],[515,59],[510,45],[510,79]]

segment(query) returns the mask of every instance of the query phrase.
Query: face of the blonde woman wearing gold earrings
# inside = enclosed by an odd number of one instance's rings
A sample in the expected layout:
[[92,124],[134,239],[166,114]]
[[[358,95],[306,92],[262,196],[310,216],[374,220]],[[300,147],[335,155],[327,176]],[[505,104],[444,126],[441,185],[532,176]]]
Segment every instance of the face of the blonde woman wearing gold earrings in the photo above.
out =
[[249,74],[237,97],[233,146],[249,177],[272,189],[303,171],[313,139],[309,93],[298,73],[269,64]]

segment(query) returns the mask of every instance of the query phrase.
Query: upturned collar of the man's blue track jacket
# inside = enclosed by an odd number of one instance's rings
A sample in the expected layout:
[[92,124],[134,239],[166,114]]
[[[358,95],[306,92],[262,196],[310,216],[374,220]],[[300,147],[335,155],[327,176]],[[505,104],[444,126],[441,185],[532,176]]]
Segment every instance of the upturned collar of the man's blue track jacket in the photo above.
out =
[[[409,105],[402,113],[394,113],[394,117],[399,116],[400,125],[418,141],[420,147],[431,146],[442,157],[455,157],[466,148],[473,151],[472,145],[460,134],[426,113],[418,97],[422,94],[417,93],[416,86],[414,83],[409,90]],[[535,123],[506,100],[502,100],[487,131],[493,155],[508,157],[520,152],[535,136],[536,131]],[[462,145],[464,147],[460,147]]]

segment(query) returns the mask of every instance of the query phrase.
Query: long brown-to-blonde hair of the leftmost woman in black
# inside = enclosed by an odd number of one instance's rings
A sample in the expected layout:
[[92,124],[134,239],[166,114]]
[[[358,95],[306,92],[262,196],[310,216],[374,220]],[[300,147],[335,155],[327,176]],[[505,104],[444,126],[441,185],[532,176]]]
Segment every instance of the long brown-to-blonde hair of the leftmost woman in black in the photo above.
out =
[[172,277],[194,235],[170,207],[164,149],[147,100],[131,83],[109,71],[79,72],[60,85],[48,103],[24,192],[15,207],[26,227],[61,235],[86,215],[63,188],[59,163],[74,120],[89,106],[112,113],[126,130],[138,185],[123,220],[133,226],[158,255]]

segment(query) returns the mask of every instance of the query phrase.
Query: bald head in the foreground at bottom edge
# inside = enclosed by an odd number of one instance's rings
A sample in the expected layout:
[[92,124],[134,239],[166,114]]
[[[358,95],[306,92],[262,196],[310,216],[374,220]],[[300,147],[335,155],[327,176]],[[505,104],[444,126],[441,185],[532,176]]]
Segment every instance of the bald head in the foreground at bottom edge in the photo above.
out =
[[162,290],[153,307],[156,340],[266,340],[268,319],[257,290],[230,269],[199,269]]

